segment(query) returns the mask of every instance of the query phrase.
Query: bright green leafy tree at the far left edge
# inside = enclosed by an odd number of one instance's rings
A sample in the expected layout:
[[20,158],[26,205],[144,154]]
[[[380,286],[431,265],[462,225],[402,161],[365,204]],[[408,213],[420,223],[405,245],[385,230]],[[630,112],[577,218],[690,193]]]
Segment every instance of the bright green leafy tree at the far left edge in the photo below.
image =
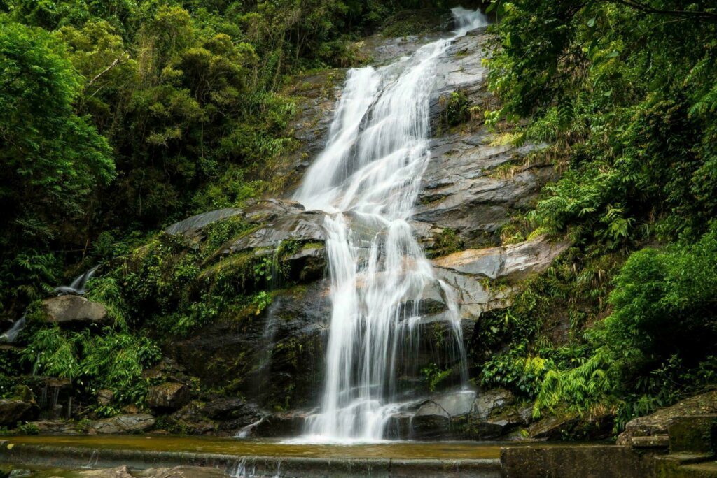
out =
[[[76,245],[87,198],[115,177],[108,142],[73,110],[82,83],[65,56],[42,29],[0,22],[3,270],[21,248]],[[4,294],[24,279],[2,277]]]

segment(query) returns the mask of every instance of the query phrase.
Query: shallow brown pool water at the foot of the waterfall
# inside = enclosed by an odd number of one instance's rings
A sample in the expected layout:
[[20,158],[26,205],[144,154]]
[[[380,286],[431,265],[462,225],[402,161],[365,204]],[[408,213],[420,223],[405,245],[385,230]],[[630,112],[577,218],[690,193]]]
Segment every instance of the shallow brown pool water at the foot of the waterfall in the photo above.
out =
[[92,449],[139,449],[151,452],[232,454],[239,457],[485,459],[500,458],[505,443],[485,442],[386,442],[381,444],[317,445],[285,444],[204,436],[92,435],[13,436],[15,444]]

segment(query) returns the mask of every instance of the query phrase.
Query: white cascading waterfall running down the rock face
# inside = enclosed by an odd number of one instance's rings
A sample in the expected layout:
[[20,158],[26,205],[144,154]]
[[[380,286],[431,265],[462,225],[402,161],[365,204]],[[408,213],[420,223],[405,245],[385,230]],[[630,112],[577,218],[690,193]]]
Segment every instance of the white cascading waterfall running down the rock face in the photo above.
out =
[[[429,99],[437,60],[451,42],[488,24],[453,9],[458,30],[411,57],[348,72],[325,150],[295,200],[329,213],[326,229],[333,311],[321,409],[305,441],[376,441],[397,403],[424,288],[436,283],[408,223],[429,157]],[[445,285],[463,383],[460,317]]]

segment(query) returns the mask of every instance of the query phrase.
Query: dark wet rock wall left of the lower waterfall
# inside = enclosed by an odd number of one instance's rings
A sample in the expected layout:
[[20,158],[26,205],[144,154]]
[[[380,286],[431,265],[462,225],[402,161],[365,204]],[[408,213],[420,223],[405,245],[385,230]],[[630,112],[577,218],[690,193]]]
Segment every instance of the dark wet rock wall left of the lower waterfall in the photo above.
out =
[[320,280],[279,291],[262,313],[210,323],[167,352],[206,384],[232,379],[234,393],[267,409],[313,403],[323,376],[327,290]]

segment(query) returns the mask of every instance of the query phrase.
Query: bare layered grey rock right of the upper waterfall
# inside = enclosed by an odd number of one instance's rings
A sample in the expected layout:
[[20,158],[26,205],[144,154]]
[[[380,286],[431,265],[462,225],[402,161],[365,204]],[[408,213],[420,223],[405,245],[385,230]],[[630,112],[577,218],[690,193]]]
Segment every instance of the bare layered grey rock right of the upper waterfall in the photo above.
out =
[[[441,98],[451,92],[464,93],[480,109],[480,116],[497,106],[486,89],[487,70],[481,62],[487,41],[484,29],[457,39],[439,64],[431,102],[436,134],[414,215],[433,228],[455,230],[466,247],[496,243],[500,227],[528,209],[541,187],[555,177],[551,165],[524,163],[538,145],[494,144],[495,135],[480,121],[443,132]],[[510,166],[510,174],[497,173],[498,168]]]

